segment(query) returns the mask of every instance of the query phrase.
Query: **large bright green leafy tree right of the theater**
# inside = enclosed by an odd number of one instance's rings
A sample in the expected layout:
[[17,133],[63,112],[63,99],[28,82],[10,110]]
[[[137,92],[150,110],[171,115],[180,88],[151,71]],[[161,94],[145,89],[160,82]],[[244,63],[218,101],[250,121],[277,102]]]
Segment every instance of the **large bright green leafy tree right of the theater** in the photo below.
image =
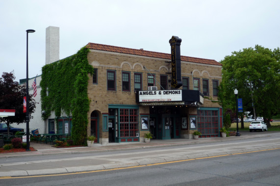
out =
[[[234,51],[221,61],[223,64],[219,97],[225,109],[236,110],[233,90],[242,98],[243,111],[253,112],[252,99],[257,116],[272,118],[280,112],[280,49],[271,50],[256,45]],[[241,113],[243,116],[244,113]],[[243,117],[241,117],[242,119]],[[243,121],[243,119],[242,119]],[[244,123],[243,128],[244,128]],[[267,120],[267,125],[270,125]],[[242,127],[242,125],[241,125]]]

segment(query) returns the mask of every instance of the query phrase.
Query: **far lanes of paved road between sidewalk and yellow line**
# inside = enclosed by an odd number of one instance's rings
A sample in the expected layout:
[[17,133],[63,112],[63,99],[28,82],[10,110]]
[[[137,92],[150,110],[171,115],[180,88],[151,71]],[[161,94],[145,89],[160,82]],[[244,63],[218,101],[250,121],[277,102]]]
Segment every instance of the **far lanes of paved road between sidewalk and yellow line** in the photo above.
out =
[[[225,139],[154,141],[150,144],[134,143],[96,148],[45,149],[35,152],[37,154],[28,152],[22,156],[2,157],[0,158],[0,176],[108,170],[280,148],[280,133],[263,132],[255,133],[254,136],[242,135],[242,137]],[[52,156],[48,156],[50,154]]]

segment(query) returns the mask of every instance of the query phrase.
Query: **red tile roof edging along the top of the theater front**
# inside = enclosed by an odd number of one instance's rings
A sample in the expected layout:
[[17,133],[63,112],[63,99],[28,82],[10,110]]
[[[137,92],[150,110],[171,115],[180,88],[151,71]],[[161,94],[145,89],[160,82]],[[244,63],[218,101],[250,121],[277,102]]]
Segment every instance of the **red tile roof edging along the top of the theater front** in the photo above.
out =
[[[168,59],[168,60],[171,59],[171,54],[161,53],[161,52],[152,52],[152,51],[147,51],[147,50],[142,50],[142,49],[124,48],[124,47],[119,47],[119,46],[101,45],[101,44],[95,44],[95,43],[88,43],[87,47],[90,49],[94,49],[94,50],[119,52],[119,53],[126,53],[126,54],[133,54],[133,55],[140,55],[140,56],[147,56],[147,57],[162,58],[162,59]],[[182,56],[182,55],[181,55],[181,61],[222,66],[221,63],[219,63],[213,59],[203,59],[203,58],[188,57],[188,56]]]

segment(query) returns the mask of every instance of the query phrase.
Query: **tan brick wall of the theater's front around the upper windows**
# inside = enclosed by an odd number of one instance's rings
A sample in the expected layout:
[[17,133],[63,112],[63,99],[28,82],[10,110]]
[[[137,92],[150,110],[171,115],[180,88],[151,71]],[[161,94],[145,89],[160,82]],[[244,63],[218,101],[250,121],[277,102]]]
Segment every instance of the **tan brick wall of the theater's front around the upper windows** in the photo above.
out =
[[[91,50],[88,54],[88,61],[94,68],[98,69],[98,84],[93,84],[92,76],[89,75],[88,96],[91,100],[89,117],[94,110],[99,111],[101,114],[108,113],[109,104],[137,105],[134,93],[134,72],[142,73],[143,90],[148,90],[149,72],[155,74],[157,82],[160,82],[160,74],[168,75],[168,79],[171,79],[171,74],[166,73],[171,71],[171,63],[167,63],[165,59]],[[209,96],[204,99],[203,107],[219,107],[218,103],[213,103],[210,99],[217,100],[217,97],[213,97],[212,80],[217,79],[219,84],[221,83],[221,69],[221,66],[181,63],[181,76],[189,77],[190,90],[193,90],[193,77],[200,78],[201,92],[202,79],[209,80]],[[107,91],[107,70],[116,71],[116,91]],[[122,91],[122,71],[130,72],[130,92]],[[160,89],[158,83],[156,83],[156,87],[158,90]],[[148,106],[140,107],[139,114],[148,113]],[[100,120],[102,120],[102,117]],[[102,131],[102,122],[99,125],[99,130]],[[101,136],[107,138],[107,132],[102,133]]]

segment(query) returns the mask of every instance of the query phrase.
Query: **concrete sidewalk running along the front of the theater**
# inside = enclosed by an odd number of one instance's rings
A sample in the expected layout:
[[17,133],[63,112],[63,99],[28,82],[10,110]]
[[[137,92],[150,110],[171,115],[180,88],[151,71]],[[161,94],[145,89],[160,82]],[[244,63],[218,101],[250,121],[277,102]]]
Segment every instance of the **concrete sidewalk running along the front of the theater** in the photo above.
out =
[[11,158],[11,157],[30,157],[30,156],[47,156],[56,154],[76,154],[76,153],[88,153],[88,152],[102,152],[102,151],[116,151],[116,150],[127,150],[127,149],[143,149],[143,148],[156,148],[165,146],[179,146],[179,145],[192,145],[202,143],[213,143],[220,141],[233,141],[233,140],[244,140],[252,138],[264,138],[269,137],[272,134],[280,135],[280,132],[240,132],[241,136],[231,136],[227,138],[200,138],[199,140],[194,139],[172,139],[172,140],[151,140],[150,143],[141,142],[126,142],[126,143],[109,143],[108,145],[101,145],[99,143],[94,147],[72,147],[72,148],[56,148],[51,144],[30,142],[30,147],[33,147],[37,151],[29,152],[18,152],[18,153],[0,153],[0,158]]

